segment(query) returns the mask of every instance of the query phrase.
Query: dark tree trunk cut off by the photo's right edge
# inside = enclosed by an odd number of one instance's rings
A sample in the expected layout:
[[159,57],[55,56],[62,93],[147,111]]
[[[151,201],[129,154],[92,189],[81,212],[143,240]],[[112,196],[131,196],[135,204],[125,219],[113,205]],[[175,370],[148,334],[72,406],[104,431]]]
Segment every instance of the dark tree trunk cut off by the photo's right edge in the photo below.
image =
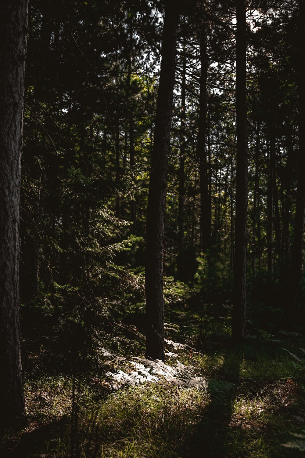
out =
[[[299,56],[305,52],[305,5],[303,0],[299,0]],[[294,219],[294,245],[291,260],[291,294],[290,310],[291,320],[294,320],[298,291],[300,285],[302,261],[303,261],[303,238],[304,238],[304,216],[305,216],[305,85],[303,62],[300,58],[298,63],[298,93],[299,93],[299,157],[298,157],[298,187],[296,195],[295,219]]]

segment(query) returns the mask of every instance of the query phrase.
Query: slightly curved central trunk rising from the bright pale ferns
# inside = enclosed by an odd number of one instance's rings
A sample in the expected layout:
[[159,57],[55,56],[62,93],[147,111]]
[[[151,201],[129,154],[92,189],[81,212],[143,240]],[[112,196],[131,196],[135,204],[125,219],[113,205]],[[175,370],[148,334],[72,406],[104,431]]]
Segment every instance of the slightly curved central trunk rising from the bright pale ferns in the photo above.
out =
[[167,158],[175,78],[177,5],[166,7],[160,82],[155,117],[146,222],[146,357],[164,360],[164,299],[162,237],[166,203]]

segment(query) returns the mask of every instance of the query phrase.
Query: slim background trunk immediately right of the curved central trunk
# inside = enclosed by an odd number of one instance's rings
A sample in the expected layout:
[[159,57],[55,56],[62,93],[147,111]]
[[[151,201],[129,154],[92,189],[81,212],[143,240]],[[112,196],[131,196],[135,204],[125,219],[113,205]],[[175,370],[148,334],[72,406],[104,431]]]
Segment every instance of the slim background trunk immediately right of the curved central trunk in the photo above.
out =
[[186,39],[183,38],[182,87],[181,87],[181,137],[179,156],[179,197],[178,197],[178,278],[183,280],[184,250],[184,199],[185,199],[185,93],[186,93]]

